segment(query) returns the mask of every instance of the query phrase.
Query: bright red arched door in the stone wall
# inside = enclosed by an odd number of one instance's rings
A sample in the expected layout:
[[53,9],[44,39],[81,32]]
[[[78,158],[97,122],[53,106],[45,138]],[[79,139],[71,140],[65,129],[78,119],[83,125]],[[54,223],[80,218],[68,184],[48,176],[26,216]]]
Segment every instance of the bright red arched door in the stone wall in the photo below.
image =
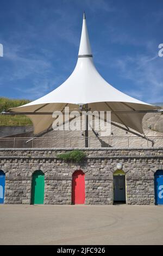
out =
[[85,174],[76,170],[72,174],[72,204],[85,203]]

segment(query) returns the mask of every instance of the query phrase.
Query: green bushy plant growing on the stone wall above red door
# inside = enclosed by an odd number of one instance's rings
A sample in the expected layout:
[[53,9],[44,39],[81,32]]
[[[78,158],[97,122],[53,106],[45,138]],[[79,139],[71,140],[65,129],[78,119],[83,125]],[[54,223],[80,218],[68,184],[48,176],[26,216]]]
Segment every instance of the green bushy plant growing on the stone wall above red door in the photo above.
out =
[[73,150],[71,152],[59,154],[57,157],[64,161],[81,162],[85,159],[86,154],[83,151]]

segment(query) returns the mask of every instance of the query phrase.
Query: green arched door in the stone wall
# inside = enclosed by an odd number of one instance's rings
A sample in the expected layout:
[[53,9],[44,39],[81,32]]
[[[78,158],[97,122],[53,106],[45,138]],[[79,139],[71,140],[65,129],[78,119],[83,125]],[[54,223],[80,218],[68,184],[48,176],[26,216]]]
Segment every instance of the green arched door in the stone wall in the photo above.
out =
[[32,180],[32,204],[43,204],[44,185],[44,174],[41,170],[36,170]]

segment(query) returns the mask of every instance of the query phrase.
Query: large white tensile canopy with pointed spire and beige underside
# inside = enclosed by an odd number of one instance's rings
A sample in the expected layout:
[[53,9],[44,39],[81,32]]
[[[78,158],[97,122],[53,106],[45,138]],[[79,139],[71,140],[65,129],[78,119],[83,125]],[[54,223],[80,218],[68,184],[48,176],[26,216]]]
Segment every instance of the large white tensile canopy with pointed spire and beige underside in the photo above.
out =
[[142,118],[145,113],[158,108],[120,92],[99,75],[93,63],[85,14],[78,61],[71,76],[51,93],[26,105],[11,108],[9,112],[28,115],[33,121],[36,134],[52,126],[54,111],[64,111],[65,106],[70,111],[79,110],[80,105],[92,112],[111,111],[112,122],[140,133],[143,133]]

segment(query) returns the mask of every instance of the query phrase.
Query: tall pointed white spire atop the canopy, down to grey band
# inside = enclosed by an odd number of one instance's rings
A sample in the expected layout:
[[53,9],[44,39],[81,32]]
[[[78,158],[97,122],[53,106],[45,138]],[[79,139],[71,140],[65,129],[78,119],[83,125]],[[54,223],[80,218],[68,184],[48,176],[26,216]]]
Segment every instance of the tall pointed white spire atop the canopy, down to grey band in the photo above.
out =
[[92,51],[91,51],[91,46],[90,46],[89,35],[87,33],[85,12],[83,14],[83,27],[82,27],[82,35],[81,35],[81,39],[80,39],[80,47],[79,47],[78,57],[79,58],[93,57]]

